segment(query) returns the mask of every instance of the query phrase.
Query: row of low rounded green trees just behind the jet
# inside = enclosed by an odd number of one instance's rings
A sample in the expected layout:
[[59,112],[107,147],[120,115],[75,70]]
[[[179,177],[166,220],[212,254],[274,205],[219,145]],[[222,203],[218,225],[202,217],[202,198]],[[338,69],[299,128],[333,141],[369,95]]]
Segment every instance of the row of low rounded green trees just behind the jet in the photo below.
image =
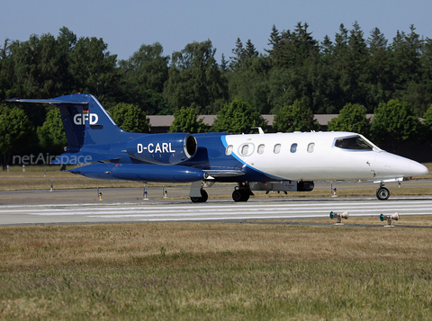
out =
[[[121,129],[132,132],[148,132],[150,125],[147,115],[136,105],[118,103],[110,108],[112,119]],[[193,107],[175,111],[170,132],[202,133],[207,131],[229,132],[232,134],[257,132],[256,127],[272,131],[293,132],[320,130],[311,109],[297,100],[285,105],[275,114],[273,124],[267,124],[263,116],[250,103],[236,98],[220,108],[216,120],[209,126]],[[338,117],[328,123],[329,130],[351,131],[365,135],[378,145],[384,144],[397,152],[399,144],[425,140],[432,134],[432,105],[423,122],[419,121],[410,104],[400,100],[381,103],[375,110],[374,119],[366,116],[366,108],[360,104],[347,103]],[[23,153],[29,147],[38,146],[45,151],[59,154],[67,145],[65,131],[58,108],[51,107],[46,120],[37,129],[31,125],[28,116],[19,106],[0,105],[0,153],[2,165],[7,165],[10,155]]]

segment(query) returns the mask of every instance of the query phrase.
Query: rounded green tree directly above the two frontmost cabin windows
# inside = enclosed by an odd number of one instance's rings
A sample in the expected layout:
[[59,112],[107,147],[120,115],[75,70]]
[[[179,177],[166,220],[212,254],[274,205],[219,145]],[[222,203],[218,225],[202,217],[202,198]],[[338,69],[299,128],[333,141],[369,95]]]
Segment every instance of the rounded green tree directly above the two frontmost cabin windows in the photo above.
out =
[[311,109],[296,100],[275,114],[273,128],[280,132],[311,131],[320,130],[320,124],[315,120]]

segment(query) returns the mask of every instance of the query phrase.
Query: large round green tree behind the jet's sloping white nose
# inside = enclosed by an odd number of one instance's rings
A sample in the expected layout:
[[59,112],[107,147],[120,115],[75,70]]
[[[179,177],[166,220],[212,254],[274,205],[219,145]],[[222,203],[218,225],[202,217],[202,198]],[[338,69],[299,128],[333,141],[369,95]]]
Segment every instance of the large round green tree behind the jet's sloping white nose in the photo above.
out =
[[376,143],[385,144],[394,152],[398,144],[419,139],[419,118],[409,103],[392,99],[380,103],[374,114],[371,130]]

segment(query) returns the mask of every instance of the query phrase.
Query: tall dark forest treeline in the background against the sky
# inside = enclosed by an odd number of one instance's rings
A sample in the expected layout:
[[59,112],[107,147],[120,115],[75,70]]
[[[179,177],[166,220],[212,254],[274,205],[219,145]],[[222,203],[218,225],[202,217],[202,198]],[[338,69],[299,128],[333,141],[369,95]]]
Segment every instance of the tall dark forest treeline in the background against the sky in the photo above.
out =
[[[117,60],[102,39],[82,37],[66,27],[58,37],[31,35],[4,40],[0,47],[0,98],[94,94],[108,106],[133,103],[147,114],[173,114],[193,107],[216,114],[235,98],[260,113],[275,113],[301,100],[314,113],[338,113],[346,103],[374,112],[400,99],[419,117],[432,103],[432,40],[415,27],[397,31],[392,42],[374,28],[365,37],[358,23],[343,24],[331,40],[315,40],[308,24],[293,30],[274,26],[269,49],[258,52],[238,39],[232,57],[220,63],[211,40],[187,44],[165,55],[160,43],[144,44]],[[42,120],[43,121],[43,120]]]

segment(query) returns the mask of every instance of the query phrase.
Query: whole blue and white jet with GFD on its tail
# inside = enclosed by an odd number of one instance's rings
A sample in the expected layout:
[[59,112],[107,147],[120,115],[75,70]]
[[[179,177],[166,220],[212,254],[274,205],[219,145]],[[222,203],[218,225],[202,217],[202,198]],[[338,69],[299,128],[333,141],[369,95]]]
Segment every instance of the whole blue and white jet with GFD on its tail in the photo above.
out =
[[58,106],[67,147],[52,164],[81,165],[69,172],[95,179],[192,183],[193,202],[207,201],[203,186],[217,182],[238,183],[232,199],[247,201],[252,191],[312,191],[316,180],[374,180],[384,201],[384,183],[428,174],[352,132],[142,134],[121,130],[91,94],[6,102]]

